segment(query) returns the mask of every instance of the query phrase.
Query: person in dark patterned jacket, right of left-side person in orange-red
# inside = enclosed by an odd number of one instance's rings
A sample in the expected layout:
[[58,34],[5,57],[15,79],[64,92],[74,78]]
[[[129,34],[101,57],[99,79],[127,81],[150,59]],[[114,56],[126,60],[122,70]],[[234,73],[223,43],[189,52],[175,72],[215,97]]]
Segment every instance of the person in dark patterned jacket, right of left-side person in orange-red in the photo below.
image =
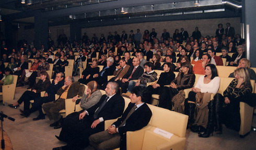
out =
[[46,58],[41,58],[41,64],[39,64],[37,71],[33,71],[33,73],[28,78],[28,85],[29,87],[27,89],[31,89],[31,87],[36,83],[36,78],[40,76],[41,71],[48,71],[50,68],[50,65],[48,62],[46,62]]

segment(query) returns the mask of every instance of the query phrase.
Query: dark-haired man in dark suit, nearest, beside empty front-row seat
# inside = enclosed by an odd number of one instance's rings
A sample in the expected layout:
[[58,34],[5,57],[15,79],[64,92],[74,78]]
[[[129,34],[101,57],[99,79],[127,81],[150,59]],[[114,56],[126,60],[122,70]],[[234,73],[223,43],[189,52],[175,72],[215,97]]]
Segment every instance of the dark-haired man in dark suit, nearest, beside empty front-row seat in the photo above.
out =
[[130,96],[131,102],[121,118],[115,121],[106,131],[92,134],[90,144],[95,149],[126,149],[126,132],[140,130],[147,126],[152,112],[145,103],[150,99],[145,87],[135,87]]

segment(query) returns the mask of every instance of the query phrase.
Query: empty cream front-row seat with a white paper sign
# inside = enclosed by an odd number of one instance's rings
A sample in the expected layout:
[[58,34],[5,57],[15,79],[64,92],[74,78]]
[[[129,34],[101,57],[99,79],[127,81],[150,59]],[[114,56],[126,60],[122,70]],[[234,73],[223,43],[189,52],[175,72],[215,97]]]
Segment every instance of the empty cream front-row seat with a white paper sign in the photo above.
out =
[[[184,149],[188,116],[150,104],[148,104],[148,106],[152,111],[152,118],[150,119],[148,126],[143,129],[126,133],[127,150]],[[115,120],[117,119],[106,120],[105,130],[107,130]],[[171,139],[162,137],[161,135],[154,133],[154,129],[156,128],[170,132],[173,136]]]

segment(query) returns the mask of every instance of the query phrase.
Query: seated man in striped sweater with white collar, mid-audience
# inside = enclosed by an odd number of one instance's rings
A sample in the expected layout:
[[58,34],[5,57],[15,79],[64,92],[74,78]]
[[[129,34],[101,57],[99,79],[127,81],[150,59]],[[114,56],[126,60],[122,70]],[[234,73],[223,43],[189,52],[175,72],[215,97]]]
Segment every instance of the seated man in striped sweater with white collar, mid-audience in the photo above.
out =
[[129,82],[127,92],[122,94],[123,97],[130,97],[134,86],[147,87],[147,83],[151,83],[157,80],[157,73],[154,70],[152,70],[152,66],[152,62],[146,62],[144,64],[144,68],[146,71],[142,74],[141,77],[138,78],[137,82],[135,82],[134,80]]

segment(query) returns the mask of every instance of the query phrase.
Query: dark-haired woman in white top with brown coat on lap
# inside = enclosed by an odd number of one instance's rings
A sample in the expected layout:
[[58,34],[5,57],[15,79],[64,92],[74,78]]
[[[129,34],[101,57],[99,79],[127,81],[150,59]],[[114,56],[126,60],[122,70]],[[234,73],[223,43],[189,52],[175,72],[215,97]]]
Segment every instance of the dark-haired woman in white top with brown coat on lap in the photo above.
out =
[[[220,78],[214,64],[207,64],[205,67],[205,76],[200,76],[195,87],[189,92],[189,97],[185,100],[185,115],[189,116],[188,127],[193,132],[202,132],[207,125],[208,108],[211,105],[212,93],[217,93],[219,89]],[[196,119],[194,121],[194,113]],[[193,126],[191,126],[194,124]]]

